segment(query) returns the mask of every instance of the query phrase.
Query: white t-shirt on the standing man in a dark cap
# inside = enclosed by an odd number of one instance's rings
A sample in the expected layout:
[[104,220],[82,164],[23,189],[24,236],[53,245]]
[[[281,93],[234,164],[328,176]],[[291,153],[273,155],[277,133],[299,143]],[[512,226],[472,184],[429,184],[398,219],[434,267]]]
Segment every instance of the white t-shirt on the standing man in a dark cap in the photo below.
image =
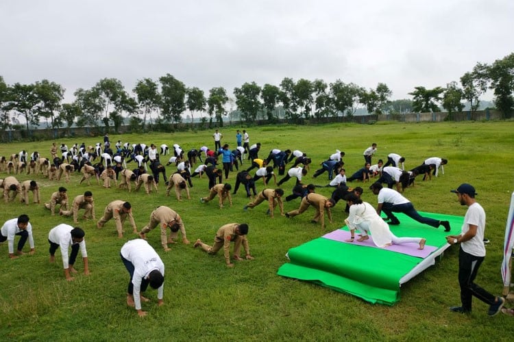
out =
[[469,224],[476,226],[476,235],[461,244],[464,252],[475,257],[485,257],[484,232],[485,232],[485,211],[481,205],[474,202],[466,211],[464,222],[461,228],[461,235],[469,231]]

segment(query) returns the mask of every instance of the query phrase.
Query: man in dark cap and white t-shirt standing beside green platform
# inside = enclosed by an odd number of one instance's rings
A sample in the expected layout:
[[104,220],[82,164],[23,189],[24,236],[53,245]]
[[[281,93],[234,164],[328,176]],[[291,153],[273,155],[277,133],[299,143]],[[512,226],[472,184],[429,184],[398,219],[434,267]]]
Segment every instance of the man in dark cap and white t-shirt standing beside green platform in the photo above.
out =
[[472,298],[475,296],[482,302],[489,304],[487,315],[494,316],[500,312],[505,302],[504,298],[496,297],[476,285],[474,280],[478,273],[478,267],[485,259],[484,231],[485,211],[475,200],[476,192],[472,185],[461,184],[456,190],[450,190],[457,194],[461,205],[467,205],[461,234],[448,235],[448,244],[461,244],[458,252],[458,284],[461,286],[461,306],[452,306],[450,311],[454,313],[471,313]]

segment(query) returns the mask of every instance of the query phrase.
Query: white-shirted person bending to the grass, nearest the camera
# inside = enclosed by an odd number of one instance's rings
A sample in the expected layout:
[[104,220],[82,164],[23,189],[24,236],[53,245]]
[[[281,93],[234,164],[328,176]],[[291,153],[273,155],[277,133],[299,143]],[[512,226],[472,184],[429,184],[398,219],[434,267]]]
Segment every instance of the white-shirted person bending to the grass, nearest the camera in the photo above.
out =
[[145,292],[148,285],[157,289],[157,306],[164,304],[164,263],[154,248],[143,239],[127,241],[121,248],[120,257],[130,274],[127,305],[134,306],[139,317],[144,317],[147,312],[141,310],[141,301],[150,300],[143,297],[141,292]]

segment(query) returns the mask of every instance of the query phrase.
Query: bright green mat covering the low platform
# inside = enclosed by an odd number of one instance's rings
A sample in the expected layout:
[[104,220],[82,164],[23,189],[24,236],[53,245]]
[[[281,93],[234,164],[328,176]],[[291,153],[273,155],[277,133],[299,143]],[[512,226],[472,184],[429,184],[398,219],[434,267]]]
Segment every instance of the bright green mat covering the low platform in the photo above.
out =
[[[397,237],[424,237],[427,245],[436,246],[441,253],[448,247],[446,235],[461,231],[463,217],[437,213],[423,213],[435,220],[448,220],[450,233],[415,222],[403,214],[396,214],[402,222],[391,226]],[[343,227],[346,229],[346,227]],[[290,263],[278,269],[279,276],[315,282],[335,291],[350,293],[371,303],[393,305],[400,300],[400,279],[424,259],[380,248],[367,248],[319,237],[288,252]],[[433,262],[426,261],[426,267]]]

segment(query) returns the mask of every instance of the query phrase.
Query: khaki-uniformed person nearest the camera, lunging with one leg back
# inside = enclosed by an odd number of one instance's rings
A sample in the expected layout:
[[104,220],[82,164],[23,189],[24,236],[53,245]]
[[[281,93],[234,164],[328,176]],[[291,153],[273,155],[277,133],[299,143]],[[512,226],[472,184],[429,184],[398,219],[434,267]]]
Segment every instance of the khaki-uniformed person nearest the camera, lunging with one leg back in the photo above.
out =
[[228,267],[234,267],[234,264],[230,262],[230,243],[234,242],[234,260],[241,261],[243,258],[240,257],[239,253],[241,251],[241,244],[243,244],[243,248],[245,248],[246,256],[245,259],[253,260],[254,257],[250,254],[250,248],[248,246],[248,239],[246,235],[248,234],[248,225],[245,223],[229,223],[221,226],[218,229],[215,236],[215,243],[212,246],[208,244],[204,244],[201,239],[197,239],[194,248],[200,246],[203,250],[208,252],[209,254],[216,254],[221,247],[223,247],[223,253],[225,254],[225,262]]

